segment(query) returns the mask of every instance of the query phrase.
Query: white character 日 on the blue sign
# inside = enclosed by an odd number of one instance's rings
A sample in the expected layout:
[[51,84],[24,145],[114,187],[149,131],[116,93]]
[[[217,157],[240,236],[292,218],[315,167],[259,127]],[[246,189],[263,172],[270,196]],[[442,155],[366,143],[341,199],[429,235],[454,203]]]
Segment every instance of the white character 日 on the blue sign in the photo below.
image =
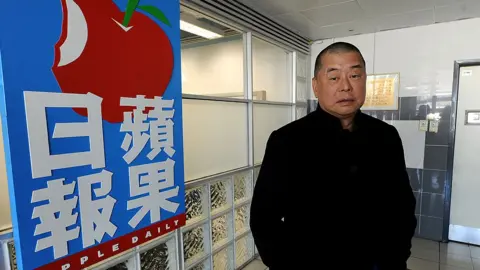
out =
[[[32,177],[52,175],[52,170],[90,165],[105,167],[102,127],[102,98],[91,93],[66,94],[24,92]],[[57,123],[52,138],[88,137],[90,151],[51,155],[47,108],[86,108],[87,122]]]

